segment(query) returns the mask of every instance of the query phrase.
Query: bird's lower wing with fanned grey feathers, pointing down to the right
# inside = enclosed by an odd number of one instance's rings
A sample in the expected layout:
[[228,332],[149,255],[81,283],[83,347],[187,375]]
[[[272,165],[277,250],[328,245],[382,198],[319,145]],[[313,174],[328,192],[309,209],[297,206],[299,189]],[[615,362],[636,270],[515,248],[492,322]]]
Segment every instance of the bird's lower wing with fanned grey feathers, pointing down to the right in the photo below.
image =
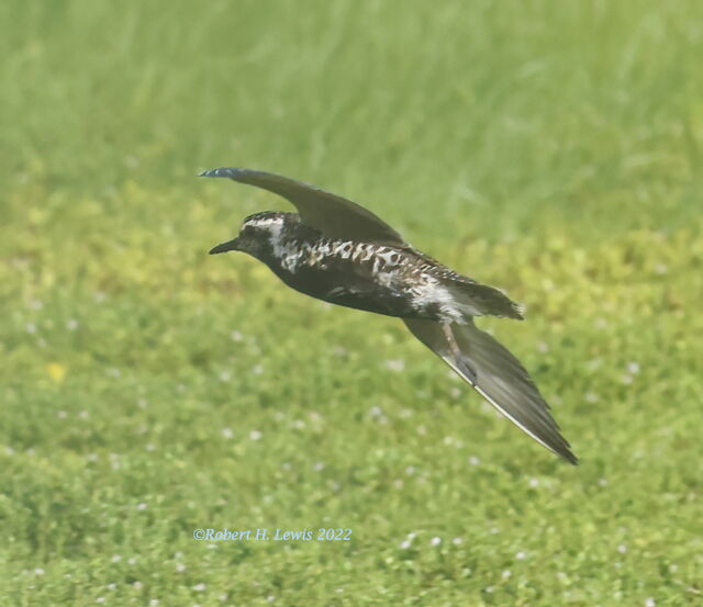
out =
[[439,323],[421,319],[404,319],[404,323],[505,417],[557,456],[578,463],[525,368],[493,337],[477,328],[473,322],[450,325],[461,353],[457,364]]

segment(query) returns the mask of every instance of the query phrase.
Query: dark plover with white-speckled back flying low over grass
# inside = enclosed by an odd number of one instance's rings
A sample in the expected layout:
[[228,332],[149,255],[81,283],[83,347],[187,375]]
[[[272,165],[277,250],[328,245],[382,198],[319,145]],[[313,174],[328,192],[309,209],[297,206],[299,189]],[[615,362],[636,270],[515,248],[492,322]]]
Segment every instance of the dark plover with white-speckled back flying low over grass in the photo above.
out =
[[523,319],[523,306],[420,251],[371,211],[315,186],[260,170],[223,167],[228,178],[287,199],[298,213],[264,211],[210,255],[241,251],[288,286],[317,300],[402,319],[486,401],[569,463],[578,458],[522,363],[476,316]]

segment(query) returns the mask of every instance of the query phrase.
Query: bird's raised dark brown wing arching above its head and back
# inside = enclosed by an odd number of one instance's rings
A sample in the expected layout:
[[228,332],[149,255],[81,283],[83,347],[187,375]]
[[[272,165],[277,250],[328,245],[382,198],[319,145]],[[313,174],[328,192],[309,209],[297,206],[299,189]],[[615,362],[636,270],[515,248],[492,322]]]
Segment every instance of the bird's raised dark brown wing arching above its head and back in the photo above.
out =
[[271,172],[224,167],[200,177],[226,177],[274,192],[298,209],[301,220],[331,238],[404,245],[398,232],[370,211],[345,198]]

